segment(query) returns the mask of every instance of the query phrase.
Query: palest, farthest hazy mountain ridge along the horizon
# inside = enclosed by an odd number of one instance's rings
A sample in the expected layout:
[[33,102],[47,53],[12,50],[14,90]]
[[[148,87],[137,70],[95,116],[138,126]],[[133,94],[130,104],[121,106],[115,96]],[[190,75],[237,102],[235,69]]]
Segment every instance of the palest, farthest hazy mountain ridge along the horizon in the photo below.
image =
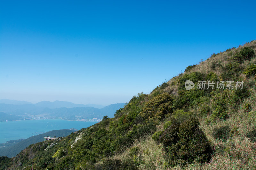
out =
[[[12,104],[12,105],[25,105],[25,104],[32,104],[28,101],[19,101],[19,100],[9,100],[9,99],[0,99],[0,103],[2,104]],[[72,108],[72,107],[94,107],[94,108],[103,108],[105,106],[102,105],[94,105],[94,104],[75,104],[69,101],[59,101],[56,100],[54,102],[50,101],[40,101],[36,104],[32,104],[36,107],[48,107],[48,108],[60,108],[60,107],[67,107],[67,108]]]

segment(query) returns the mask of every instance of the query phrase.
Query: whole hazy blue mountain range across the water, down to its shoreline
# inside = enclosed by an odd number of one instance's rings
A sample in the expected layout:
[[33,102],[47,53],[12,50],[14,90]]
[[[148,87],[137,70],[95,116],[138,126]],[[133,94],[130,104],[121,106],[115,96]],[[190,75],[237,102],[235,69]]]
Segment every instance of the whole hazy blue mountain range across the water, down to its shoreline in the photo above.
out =
[[[6,103],[17,104],[6,104]],[[25,104],[21,104],[25,103]],[[86,106],[86,107],[83,107]],[[99,105],[97,105],[99,106]],[[0,100],[0,122],[26,119],[68,119],[84,120],[103,116],[113,117],[116,110],[124,107],[124,103],[111,104],[103,108],[89,107],[89,105],[74,104],[66,101],[42,101],[29,104],[26,101]]]

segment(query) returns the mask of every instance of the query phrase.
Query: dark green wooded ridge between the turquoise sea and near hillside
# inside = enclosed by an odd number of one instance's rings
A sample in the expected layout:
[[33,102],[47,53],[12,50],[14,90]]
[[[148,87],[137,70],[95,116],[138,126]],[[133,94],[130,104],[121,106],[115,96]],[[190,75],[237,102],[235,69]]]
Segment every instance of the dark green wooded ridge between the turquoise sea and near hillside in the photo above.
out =
[[[0,144],[0,156],[7,156],[9,158],[14,157],[18,153],[20,153],[21,150],[28,147],[30,144],[35,144],[37,142],[44,141],[44,136],[51,136],[51,137],[63,137],[63,135],[66,137],[70,135],[72,132],[77,131],[77,129],[61,129],[61,130],[52,130],[40,135],[32,136],[24,140],[20,140],[18,143],[12,143],[12,141],[8,141],[7,144]],[[15,140],[19,141],[19,140]],[[14,142],[15,142],[14,141]]]

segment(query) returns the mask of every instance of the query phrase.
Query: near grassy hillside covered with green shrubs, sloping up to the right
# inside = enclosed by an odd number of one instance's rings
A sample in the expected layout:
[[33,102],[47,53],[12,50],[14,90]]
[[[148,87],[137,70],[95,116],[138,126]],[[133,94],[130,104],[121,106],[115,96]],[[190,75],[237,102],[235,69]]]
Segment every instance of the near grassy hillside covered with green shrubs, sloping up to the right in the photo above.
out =
[[114,118],[1,157],[1,169],[256,169],[255,51],[252,41],[212,54]]

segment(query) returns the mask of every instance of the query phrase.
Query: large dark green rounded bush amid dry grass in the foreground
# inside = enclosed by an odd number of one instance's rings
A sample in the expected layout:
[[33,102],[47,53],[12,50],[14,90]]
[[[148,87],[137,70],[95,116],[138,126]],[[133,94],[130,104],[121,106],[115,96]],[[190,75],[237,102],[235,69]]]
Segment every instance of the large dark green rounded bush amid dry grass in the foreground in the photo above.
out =
[[186,165],[194,160],[204,163],[211,159],[211,146],[195,118],[180,124],[173,122],[164,130],[160,142],[163,143],[166,158],[172,166]]

